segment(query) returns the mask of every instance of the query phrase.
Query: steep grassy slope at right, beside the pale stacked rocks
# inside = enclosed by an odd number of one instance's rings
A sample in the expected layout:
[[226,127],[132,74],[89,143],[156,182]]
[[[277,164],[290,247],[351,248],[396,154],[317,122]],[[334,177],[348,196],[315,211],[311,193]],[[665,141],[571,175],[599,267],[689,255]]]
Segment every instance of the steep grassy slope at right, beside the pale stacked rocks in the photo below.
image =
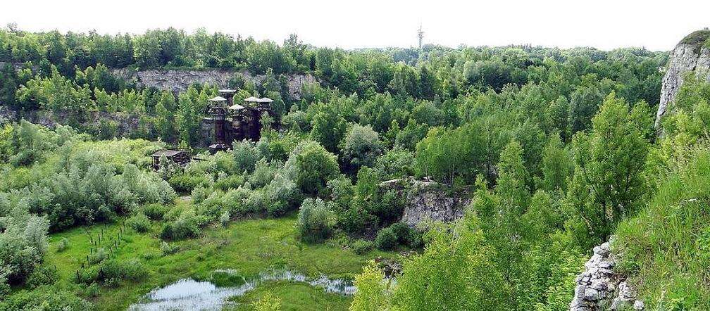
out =
[[619,225],[619,268],[648,310],[710,310],[709,205],[710,151],[700,151]]

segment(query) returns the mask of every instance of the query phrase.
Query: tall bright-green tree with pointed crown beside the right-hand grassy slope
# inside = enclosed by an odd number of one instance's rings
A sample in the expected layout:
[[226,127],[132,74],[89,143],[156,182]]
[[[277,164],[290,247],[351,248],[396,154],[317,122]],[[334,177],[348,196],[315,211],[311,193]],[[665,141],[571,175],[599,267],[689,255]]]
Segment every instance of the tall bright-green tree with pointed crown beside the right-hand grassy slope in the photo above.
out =
[[648,141],[634,114],[612,92],[592,119],[591,133],[578,133],[572,141],[574,175],[567,197],[587,224],[590,243],[606,240],[646,194],[642,171]]

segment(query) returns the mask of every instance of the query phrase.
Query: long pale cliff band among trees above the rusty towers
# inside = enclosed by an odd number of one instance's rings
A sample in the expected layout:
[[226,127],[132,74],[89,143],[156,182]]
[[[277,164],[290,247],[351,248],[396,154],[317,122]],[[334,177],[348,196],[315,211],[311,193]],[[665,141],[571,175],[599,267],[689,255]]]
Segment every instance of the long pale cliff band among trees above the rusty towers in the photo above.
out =
[[[244,80],[261,83],[266,75],[250,75],[246,70],[130,70],[127,68],[113,69],[114,75],[127,81],[136,82],[140,87],[155,87],[167,89],[171,92],[183,92],[195,82],[214,84],[226,87],[229,79],[234,75],[241,75]],[[306,83],[315,83],[317,80],[310,74],[291,74],[286,77],[291,99],[301,99],[301,90]]]

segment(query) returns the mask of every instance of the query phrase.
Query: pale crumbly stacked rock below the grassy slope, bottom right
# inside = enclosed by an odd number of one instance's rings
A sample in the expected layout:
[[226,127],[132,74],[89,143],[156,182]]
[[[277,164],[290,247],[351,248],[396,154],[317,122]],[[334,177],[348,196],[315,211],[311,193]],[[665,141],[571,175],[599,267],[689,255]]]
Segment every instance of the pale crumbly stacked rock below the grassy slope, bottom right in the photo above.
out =
[[608,242],[594,247],[594,255],[577,276],[569,311],[644,310],[643,302],[636,300],[635,290],[613,271],[615,266]]

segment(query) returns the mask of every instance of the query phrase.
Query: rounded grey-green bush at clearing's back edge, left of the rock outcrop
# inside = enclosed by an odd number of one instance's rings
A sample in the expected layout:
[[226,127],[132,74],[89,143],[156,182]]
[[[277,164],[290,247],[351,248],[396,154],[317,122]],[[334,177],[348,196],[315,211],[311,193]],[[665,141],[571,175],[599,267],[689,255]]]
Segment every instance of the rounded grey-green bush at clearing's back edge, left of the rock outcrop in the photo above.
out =
[[333,222],[333,214],[323,200],[308,198],[298,212],[296,231],[303,241],[322,241],[330,235]]

